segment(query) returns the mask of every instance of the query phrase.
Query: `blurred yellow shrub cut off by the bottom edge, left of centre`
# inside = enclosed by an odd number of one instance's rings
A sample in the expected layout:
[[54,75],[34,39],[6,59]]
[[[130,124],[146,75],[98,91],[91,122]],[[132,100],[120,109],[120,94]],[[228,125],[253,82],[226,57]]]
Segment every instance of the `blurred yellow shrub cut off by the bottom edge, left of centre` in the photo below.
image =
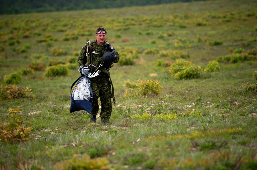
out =
[[58,163],[53,167],[58,170],[112,170],[106,158],[90,159],[90,156],[88,154],[83,154],[81,156],[74,155],[72,159]]

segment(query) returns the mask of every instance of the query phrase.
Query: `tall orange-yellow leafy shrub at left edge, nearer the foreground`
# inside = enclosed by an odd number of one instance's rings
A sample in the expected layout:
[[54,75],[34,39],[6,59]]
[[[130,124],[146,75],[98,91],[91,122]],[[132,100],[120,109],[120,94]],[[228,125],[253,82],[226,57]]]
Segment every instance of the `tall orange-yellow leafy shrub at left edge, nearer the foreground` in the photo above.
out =
[[19,109],[8,109],[7,123],[1,123],[0,139],[2,142],[23,142],[29,139],[32,127],[24,127],[24,118]]

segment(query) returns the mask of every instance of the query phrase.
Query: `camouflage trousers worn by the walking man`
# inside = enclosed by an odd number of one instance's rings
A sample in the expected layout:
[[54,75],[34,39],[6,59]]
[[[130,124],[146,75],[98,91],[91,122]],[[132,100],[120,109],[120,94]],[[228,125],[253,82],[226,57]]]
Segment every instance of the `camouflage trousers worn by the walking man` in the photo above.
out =
[[109,75],[101,72],[98,76],[91,78],[91,87],[93,90],[93,109],[91,114],[97,115],[99,106],[98,98],[101,101],[101,121],[109,120],[112,114],[112,101],[111,101],[111,84]]

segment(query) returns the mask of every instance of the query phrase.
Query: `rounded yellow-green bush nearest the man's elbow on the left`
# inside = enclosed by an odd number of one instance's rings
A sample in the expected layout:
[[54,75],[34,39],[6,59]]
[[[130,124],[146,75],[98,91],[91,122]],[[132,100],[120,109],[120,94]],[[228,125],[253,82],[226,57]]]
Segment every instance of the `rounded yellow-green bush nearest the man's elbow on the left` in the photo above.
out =
[[66,65],[53,65],[53,66],[48,66],[45,70],[44,76],[46,77],[53,77],[53,76],[65,76],[68,74],[68,68]]

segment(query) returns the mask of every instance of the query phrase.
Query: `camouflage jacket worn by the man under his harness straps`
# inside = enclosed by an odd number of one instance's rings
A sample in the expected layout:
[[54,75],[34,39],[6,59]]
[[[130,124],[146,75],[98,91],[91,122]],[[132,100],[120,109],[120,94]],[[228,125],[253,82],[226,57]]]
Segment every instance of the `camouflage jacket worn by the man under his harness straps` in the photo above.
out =
[[[103,45],[98,45],[96,40],[89,40],[92,42],[92,64],[94,66],[97,66],[98,64],[100,64],[100,62],[103,59],[103,54],[108,52],[106,50],[106,44],[110,44],[107,41],[104,41]],[[110,44],[111,45],[111,44]],[[98,55],[93,53],[93,50],[95,53],[98,53]],[[120,55],[119,53],[113,48],[113,52],[116,54],[116,60],[114,61],[114,63],[117,63],[120,60]],[[79,57],[78,57],[78,64],[80,65],[89,65],[89,56],[86,56],[87,53],[87,44],[85,44],[80,53],[79,53]],[[86,59],[86,60],[85,60]],[[93,70],[96,68],[93,68]],[[103,72],[106,72],[106,70],[103,70]],[[107,70],[108,73],[108,70]]]

